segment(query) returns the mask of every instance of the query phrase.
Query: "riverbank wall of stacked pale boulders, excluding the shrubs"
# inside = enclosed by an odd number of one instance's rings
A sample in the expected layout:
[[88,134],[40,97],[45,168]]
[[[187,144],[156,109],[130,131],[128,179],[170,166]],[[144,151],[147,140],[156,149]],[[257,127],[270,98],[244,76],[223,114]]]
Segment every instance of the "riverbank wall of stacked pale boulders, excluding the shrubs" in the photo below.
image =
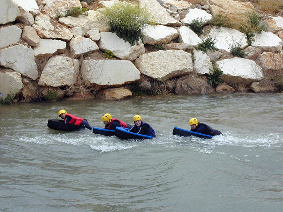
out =
[[[251,44],[237,27],[207,24],[197,35],[187,26],[194,19],[208,21],[220,14],[233,23],[243,22],[246,14],[258,12],[249,1],[139,0],[156,24],[146,26],[143,42],[135,45],[109,32],[101,19],[103,8],[116,1],[89,1],[89,5],[79,0],[3,1],[2,102],[282,91],[282,16],[262,15],[264,31],[255,32]],[[84,7],[88,15],[64,17],[72,7]],[[216,50],[197,50],[208,37],[215,40]],[[235,45],[243,50],[243,58],[231,54]],[[224,82],[217,87],[207,80],[214,64],[223,72]]]

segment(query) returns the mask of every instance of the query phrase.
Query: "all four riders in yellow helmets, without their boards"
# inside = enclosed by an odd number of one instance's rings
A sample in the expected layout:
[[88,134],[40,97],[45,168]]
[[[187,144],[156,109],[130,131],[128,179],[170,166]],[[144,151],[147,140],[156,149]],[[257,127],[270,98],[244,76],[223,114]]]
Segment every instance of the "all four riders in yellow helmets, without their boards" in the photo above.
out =
[[[80,117],[76,117],[70,113],[67,113],[66,110],[59,110],[58,115],[67,124],[82,125],[88,128],[89,130],[93,129],[93,127],[89,125],[87,120],[80,118]],[[152,137],[156,136],[153,128],[148,123],[143,122],[140,115],[134,115],[133,117],[134,126],[126,122],[123,122],[119,119],[112,118],[111,114],[109,113],[104,114],[101,120],[104,123],[104,128],[107,130],[115,130],[116,127],[125,127],[125,128],[129,128],[130,132],[134,132],[134,133],[141,134],[141,135],[149,135]],[[198,132],[198,133],[212,135],[212,136],[222,134],[220,131],[213,130],[212,127],[204,123],[198,122],[196,118],[191,118],[189,120],[189,124],[191,126],[191,131],[193,132]]]

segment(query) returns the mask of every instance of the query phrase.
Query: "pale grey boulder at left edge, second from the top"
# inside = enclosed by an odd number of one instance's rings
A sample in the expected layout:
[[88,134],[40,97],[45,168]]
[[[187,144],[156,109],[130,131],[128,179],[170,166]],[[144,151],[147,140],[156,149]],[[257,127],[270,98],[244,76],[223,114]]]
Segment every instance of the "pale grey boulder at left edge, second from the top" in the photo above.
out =
[[15,44],[21,38],[22,29],[17,26],[0,28],[0,48]]

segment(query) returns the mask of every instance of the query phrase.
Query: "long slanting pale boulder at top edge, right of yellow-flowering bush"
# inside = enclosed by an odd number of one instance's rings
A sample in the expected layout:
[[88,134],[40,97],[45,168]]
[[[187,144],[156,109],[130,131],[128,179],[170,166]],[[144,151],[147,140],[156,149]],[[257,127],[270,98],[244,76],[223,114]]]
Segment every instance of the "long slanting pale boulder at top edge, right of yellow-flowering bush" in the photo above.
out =
[[147,7],[152,17],[154,17],[157,24],[165,26],[181,26],[180,21],[175,20],[156,0],[139,0],[142,6]]

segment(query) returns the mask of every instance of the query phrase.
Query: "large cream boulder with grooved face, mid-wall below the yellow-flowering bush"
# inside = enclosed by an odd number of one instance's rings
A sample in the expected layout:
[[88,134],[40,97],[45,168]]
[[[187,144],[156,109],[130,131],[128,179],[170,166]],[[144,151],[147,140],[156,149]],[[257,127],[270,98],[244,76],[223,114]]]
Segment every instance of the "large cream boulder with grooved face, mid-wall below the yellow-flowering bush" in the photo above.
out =
[[159,50],[143,54],[135,61],[142,74],[164,81],[192,72],[192,55],[182,50]]

